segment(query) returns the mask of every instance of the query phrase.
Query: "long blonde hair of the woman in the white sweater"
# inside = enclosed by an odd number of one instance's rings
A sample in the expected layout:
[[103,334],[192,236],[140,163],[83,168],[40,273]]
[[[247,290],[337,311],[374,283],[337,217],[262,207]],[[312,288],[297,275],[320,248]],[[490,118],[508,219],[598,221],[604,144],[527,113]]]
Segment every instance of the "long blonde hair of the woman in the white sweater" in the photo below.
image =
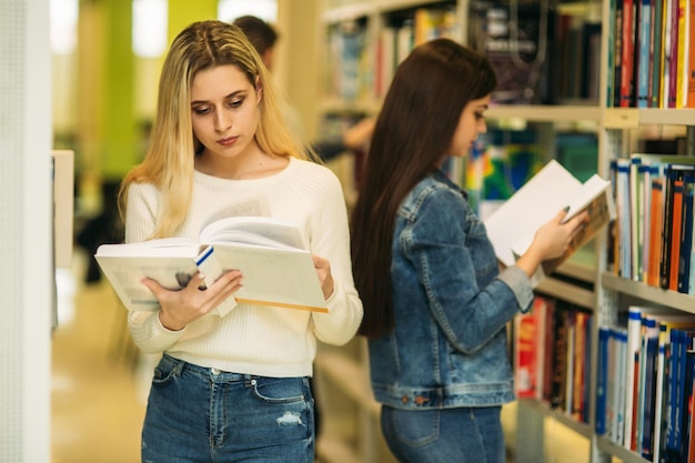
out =
[[222,21],[194,22],[177,36],[159,82],[157,115],[150,148],[142,163],[123,179],[121,211],[131,183],[154,184],[162,194],[157,230],[151,238],[170,236],[185,221],[193,191],[194,157],[202,151],[191,122],[191,84],[199,71],[235,66],[256,91],[262,91],[255,139],[270,155],[315,159],[311,147],[288,129],[281,95],[263,61],[243,31]]

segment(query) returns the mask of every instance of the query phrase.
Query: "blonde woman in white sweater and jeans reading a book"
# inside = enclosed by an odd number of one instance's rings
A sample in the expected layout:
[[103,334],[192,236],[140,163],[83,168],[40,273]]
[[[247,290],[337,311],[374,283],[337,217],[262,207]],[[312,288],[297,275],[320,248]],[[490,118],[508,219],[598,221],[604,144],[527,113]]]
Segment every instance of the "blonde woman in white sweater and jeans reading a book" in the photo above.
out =
[[124,179],[125,241],[195,238],[209,221],[264,214],[295,223],[309,243],[329,313],[239,303],[229,271],[207,290],[145,284],[157,312],[131,312],[134,342],[162,352],[142,431],[143,462],[314,460],[309,386],[316,340],[343,344],[362,303],[353,284],[348,213],[338,179],[288,130],[261,57],[244,33],[195,22],[163,64],[151,148]]

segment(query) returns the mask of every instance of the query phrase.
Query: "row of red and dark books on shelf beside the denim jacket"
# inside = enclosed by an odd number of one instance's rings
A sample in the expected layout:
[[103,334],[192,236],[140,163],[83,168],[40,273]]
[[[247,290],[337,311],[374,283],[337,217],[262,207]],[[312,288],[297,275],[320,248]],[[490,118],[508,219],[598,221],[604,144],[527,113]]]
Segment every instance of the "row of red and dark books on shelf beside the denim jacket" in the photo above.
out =
[[536,294],[531,312],[514,319],[515,390],[588,423],[593,315],[566,301]]

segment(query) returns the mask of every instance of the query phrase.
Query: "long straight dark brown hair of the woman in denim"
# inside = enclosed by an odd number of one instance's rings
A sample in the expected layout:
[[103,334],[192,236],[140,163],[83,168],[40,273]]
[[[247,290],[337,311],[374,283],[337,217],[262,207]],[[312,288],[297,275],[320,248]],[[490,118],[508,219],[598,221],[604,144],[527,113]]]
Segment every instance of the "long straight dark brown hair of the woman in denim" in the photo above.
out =
[[465,105],[495,85],[487,59],[449,39],[416,47],[396,69],[351,219],[353,272],[364,305],[360,334],[393,330],[391,246],[399,207],[449,154]]

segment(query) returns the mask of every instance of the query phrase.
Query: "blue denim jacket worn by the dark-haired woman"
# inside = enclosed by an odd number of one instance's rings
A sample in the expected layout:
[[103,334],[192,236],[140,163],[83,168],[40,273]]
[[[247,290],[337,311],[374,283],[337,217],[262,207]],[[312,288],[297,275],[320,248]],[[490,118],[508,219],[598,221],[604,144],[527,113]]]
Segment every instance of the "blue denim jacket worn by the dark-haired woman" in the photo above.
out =
[[465,193],[436,171],[396,215],[391,280],[395,330],[369,341],[372,389],[399,409],[514,400],[506,323],[533,290],[517,266],[500,273]]

